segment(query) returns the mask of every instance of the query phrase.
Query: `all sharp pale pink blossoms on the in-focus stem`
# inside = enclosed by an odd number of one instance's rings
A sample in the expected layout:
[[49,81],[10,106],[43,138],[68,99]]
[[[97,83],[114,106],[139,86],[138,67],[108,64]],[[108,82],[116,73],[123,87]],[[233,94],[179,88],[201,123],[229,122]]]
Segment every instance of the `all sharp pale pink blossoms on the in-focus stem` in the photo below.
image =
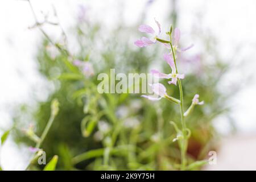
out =
[[[160,44],[163,44],[166,48],[170,49],[170,53],[166,53],[163,55],[163,59],[166,61],[166,63],[171,68],[171,73],[162,73],[159,72],[156,69],[151,69],[151,73],[153,76],[156,76],[158,78],[165,78],[165,79],[171,79],[168,81],[168,84],[174,84],[177,85],[177,80],[181,80],[185,78],[185,75],[183,73],[178,73],[176,68],[176,61],[175,59],[175,52],[182,52],[187,51],[189,48],[193,47],[193,44],[191,46],[188,46],[186,48],[180,48],[179,47],[179,40],[180,40],[180,30],[179,28],[175,28],[174,35],[172,36],[172,27],[170,29],[170,32],[167,32],[167,35],[170,35],[170,40],[163,40],[160,39],[160,33],[161,33],[161,25],[160,23],[155,19],[156,26],[158,27],[158,34],[156,34],[156,31],[151,26],[148,26],[146,24],[142,24],[139,26],[138,30],[141,32],[146,32],[147,34],[153,35],[152,38],[146,38],[142,36],[141,39],[136,40],[134,44],[138,47],[146,47],[150,46],[152,44],[155,44],[156,42],[159,42]],[[142,95],[142,97],[147,98],[148,100],[152,101],[158,101],[161,98],[169,98],[168,94],[166,93],[166,87],[163,84],[155,83],[150,85],[152,91],[154,92],[154,96],[145,96]],[[192,100],[192,105],[202,105],[204,104],[204,101],[199,102],[199,94],[196,94],[195,97]]]

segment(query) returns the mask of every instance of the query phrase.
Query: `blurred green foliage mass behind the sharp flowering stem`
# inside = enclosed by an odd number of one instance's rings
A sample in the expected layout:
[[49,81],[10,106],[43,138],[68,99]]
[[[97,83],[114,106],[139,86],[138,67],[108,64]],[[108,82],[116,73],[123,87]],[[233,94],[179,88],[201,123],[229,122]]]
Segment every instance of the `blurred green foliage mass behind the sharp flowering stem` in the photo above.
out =
[[[110,68],[122,73],[147,73],[152,64],[164,65],[164,48],[135,47],[134,38],[140,36],[137,27],[119,26],[106,32],[101,24],[85,21],[71,31],[78,47],[73,53],[75,59],[92,63],[95,75],[82,75],[68,55],[54,50],[53,45],[44,40],[36,59],[38,69],[55,89],[46,101],[38,101],[36,107],[20,107],[14,117],[16,140],[34,145],[19,129],[30,118],[35,121],[35,133],[40,136],[51,113],[51,101],[57,98],[59,114],[42,145],[47,161],[59,156],[56,169],[178,169],[180,151],[177,143],[172,142],[176,133],[170,125],[170,121],[174,121],[180,126],[176,105],[167,100],[151,102],[139,94],[97,92],[98,73],[109,73]],[[205,159],[208,151],[215,147],[218,134],[212,122],[227,111],[224,102],[228,97],[220,94],[218,82],[228,67],[215,53],[211,55],[214,61],[209,63],[209,49],[201,52],[196,62],[180,59],[178,63],[181,68],[188,65],[188,70],[191,69],[183,80],[184,109],[191,104],[195,93],[205,101],[204,106],[196,106],[185,118],[192,131],[187,152],[189,163]],[[166,66],[164,70],[168,72]],[[177,87],[165,85],[168,94],[179,97]],[[199,167],[195,165],[192,169]]]

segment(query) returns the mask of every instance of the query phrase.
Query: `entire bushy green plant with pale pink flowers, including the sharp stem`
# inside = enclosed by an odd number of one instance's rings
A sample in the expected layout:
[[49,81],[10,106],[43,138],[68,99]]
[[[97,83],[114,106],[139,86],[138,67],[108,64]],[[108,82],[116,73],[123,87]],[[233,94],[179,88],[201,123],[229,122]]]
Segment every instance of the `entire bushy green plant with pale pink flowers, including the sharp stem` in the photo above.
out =
[[[15,134],[14,138],[19,142],[33,146],[27,147],[29,154],[34,154],[27,169],[44,169],[34,160],[43,152],[47,154],[47,163],[51,164],[46,169],[200,169],[205,164],[205,160],[201,159],[205,159],[208,151],[212,150],[212,141],[215,141],[212,120],[224,110],[222,103],[225,98],[217,90],[220,77],[216,77],[216,73],[225,69],[225,65],[207,65],[204,54],[209,51],[205,50],[193,59],[193,65],[200,71],[186,72],[184,75],[183,72],[177,72],[177,67],[180,71],[182,64],[188,65],[191,61],[186,60],[181,53],[192,46],[179,46],[180,31],[177,28],[167,33],[170,40],[164,40],[160,38],[162,30],[156,20],[156,30],[141,26],[140,31],[153,36],[151,39],[139,39],[135,43],[137,46],[160,44],[154,51],[146,52],[135,49],[130,36],[123,36],[127,34],[127,27],[123,24],[105,34],[106,28],[102,22],[89,22],[82,17],[88,10],[80,10],[79,22],[72,28],[77,52],[65,42],[64,31],[60,43],[47,35],[44,22],[38,22],[35,17],[33,27],[38,27],[45,38],[36,59],[38,71],[47,78],[48,84],[54,85],[54,89],[49,88],[47,98],[43,101],[42,98],[35,98],[36,107],[25,104],[14,114],[16,125],[11,133]],[[138,34],[136,29],[132,27],[129,34]],[[163,73],[157,69],[152,69],[151,73],[155,77],[167,79],[167,82],[150,85],[154,96],[142,96],[158,102],[152,104],[141,99],[139,94],[97,92],[97,75],[109,73],[112,68],[127,74],[145,73],[152,60],[157,59],[160,48],[170,51],[163,56],[163,64],[167,67],[164,67]],[[167,89],[168,84],[170,86]],[[203,104],[197,94],[193,98],[192,93],[196,92],[208,103],[207,109],[197,107],[194,110],[196,105]],[[56,103],[59,103],[60,108]],[[52,104],[56,107],[51,107]],[[181,105],[188,106],[187,111],[183,111],[183,117],[189,117],[189,122],[185,122],[184,118],[182,123],[178,122],[181,115],[179,109],[183,109]],[[59,108],[58,112],[56,108]],[[192,110],[193,114],[190,114]],[[20,132],[28,122],[34,125]],[[185,127],[181,124],[185,124]],[[8,134],[9,130],[3,134],[2,143]]]

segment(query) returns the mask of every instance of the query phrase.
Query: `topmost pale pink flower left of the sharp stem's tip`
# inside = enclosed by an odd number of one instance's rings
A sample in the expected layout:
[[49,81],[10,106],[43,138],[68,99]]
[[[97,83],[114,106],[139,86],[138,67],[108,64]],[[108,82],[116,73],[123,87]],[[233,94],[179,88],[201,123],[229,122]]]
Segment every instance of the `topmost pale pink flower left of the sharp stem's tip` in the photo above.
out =
[[155,19],[155,23],[158,26],[158,34],[156,34],[156,31],[152,27],[150,27],[150,26],[148,26],[146,24],[142,24],[141,26],[139,26],[139,31],[151,34],[152,35],[152,39],[148,39],[148,38],[143,36],[141,39],[139,39],[139,40],[134,42],[134,44],[136,46],[138,46],[138,47],[146,47],[146,46],[150,46],[151,44],[155,44],[156,43],[156,38],[161,33],[161,26],[160,26],[160,23],[156,19]]

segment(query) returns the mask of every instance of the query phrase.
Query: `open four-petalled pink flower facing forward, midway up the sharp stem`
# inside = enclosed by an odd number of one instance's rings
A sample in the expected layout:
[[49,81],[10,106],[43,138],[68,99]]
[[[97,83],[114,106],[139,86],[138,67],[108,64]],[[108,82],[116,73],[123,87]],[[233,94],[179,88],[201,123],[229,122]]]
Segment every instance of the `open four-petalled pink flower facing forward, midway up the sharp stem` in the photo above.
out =
[[164,60],[166,60],[166,62],[170,65],[170,67],[172,69],[172,73],[164,74],[164,73],[161,73],[161,72],[159,72],[159,71],[157,71],[155,69],[152,69],[151,73],[154,76],[158,76],[159,78],[166,78],[166,79],[170,79],[171,78],[172,80],[168,81],[168,84],[176,85],[177,84],[177,78],[184,79],[185,75],[184,74],[176,73],[176,68],[175,68],[174,60],[172,59],[172,56],[170,54],[165,54],[164,55]]

